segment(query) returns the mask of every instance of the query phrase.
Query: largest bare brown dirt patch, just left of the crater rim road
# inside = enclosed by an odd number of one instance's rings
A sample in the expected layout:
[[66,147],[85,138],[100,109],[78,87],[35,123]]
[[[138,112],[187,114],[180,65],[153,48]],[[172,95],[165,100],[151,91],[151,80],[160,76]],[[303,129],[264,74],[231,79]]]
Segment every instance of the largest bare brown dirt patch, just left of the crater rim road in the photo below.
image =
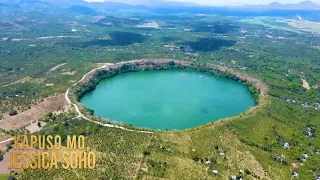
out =
[[23,111],[16,116],[5,114],[4,119],[1,121],[2,128],[8,130],[27,126],[45,114],[59,110],[66,103],[64,95],[48,97],[38,105],[32,106],[31,109]]

